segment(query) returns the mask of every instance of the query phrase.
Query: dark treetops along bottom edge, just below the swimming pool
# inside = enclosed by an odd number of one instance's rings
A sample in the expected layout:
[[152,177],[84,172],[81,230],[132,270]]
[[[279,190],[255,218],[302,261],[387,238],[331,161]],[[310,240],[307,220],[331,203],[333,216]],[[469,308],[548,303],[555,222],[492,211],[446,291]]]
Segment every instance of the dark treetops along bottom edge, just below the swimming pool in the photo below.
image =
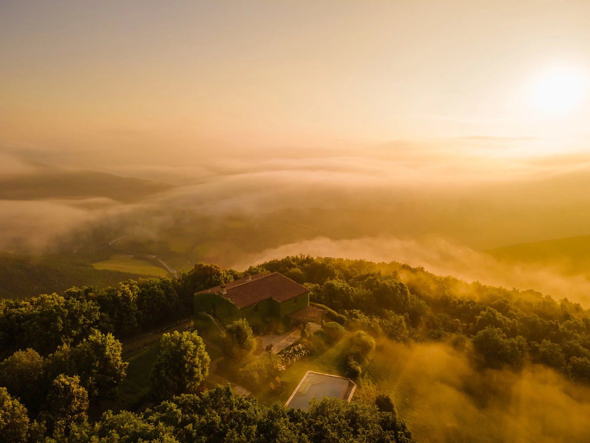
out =
[[65,442],[153,441],[167,443],[412,443],[394,412],[374,405],[324,399],[309,412],[264,406],[217,387],[181,395],[148,409],[105,413],[96,424],[74,428]]

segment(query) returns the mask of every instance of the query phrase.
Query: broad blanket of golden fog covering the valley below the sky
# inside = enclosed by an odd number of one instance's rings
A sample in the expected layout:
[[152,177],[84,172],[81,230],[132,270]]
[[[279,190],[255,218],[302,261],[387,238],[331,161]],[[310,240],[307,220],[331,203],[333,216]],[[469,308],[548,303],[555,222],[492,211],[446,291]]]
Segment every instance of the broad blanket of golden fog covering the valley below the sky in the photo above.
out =
[[[4,183],[17,178],[34,183],[48,170],[54,177],[94,170],[144,181],[121,183],[113,177],[109,184],[110,176],[101,177],[100,185],[84,184],[85,191],[74,177],[71,196],[64,195],[63,183],[60,193],[51,196],[53,180],[43,193],[31,185],[23,191],[25,197],[0,200],[0,248],[44,252],[74,233],[80,241],[80,233],[99,226],[113,238],[135,234],[158,239],[164,230],[199,230],[204,220],[210,226],[238,216],[253,225],[268,222],[249,236],[266,239],[272,231],[273,237],[258,248],[215,256],[224,266],[242,269],[293,253],[396,260],[584,302],[590,294],[585,276],[564,276],[558,266],[504,265],[480,252],[588,233],[590,194],[584,190],[590,182],[590,157],[583,151],[514,154],[536,144],[534,139],[470,138],[339,149],[266,148],[247,155],[239,149],[205,149],[200,155],[179,149],[168,155],[162,149],[145,156],[137,149],[74,155],[4,148]],[[291,219],[273,221],[272,214],[285,210]],[[300,229],[281,236],[288,225]]]

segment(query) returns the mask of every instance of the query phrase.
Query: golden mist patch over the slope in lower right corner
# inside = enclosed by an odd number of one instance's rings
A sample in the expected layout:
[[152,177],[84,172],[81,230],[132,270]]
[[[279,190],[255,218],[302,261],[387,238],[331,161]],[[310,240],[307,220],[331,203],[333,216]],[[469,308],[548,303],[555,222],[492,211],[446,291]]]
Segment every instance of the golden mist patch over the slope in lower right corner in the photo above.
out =
[[381,347],[378,389],[392,393],[417,441],[588,441],[590,389],[545,366],[481,372],[468,354],[445,344]]

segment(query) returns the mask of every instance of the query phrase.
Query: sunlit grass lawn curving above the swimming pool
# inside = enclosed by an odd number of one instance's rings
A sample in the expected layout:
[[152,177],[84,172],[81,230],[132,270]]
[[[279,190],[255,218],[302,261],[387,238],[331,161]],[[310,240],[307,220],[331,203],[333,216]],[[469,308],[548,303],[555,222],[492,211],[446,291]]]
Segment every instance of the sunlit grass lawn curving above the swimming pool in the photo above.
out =
[[343,338],[343,340],[340,340],[335,346],[329,348],[324,353],[305,357],[293,363],[286,371],[279,375],[285,385],[281,393],[274,392],[267,384],[260,391],[253,392],[253,394],[258,401],[265,405],[271,405],[273,403],[284,405],[291,396],[291,393],[293,393],[293,389],[297,387],[307,371],[346,376],[346,359],[348,358],[350,346],[350,338]]

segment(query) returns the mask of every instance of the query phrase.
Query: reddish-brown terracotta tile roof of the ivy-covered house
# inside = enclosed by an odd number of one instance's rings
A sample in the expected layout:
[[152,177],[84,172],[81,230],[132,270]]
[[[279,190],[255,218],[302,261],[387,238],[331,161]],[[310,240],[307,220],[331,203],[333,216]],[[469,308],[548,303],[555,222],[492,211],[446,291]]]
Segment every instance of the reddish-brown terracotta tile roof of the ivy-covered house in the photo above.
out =
[[307,292],[309,289],[305,286],[301,286],[281,273],[265,272],[226,283],[225,294],[222,294],[221,286],[205,289],[195,294],[223,295],[238,309],[243,309],[269,298],[283,302],[307,294]]

